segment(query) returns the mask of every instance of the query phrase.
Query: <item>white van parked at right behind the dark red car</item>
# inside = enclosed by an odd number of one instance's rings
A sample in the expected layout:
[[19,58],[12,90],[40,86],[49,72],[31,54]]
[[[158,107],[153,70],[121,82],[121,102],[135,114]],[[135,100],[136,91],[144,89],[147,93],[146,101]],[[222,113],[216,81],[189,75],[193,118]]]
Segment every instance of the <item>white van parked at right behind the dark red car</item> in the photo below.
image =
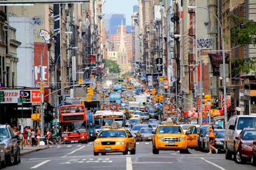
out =
[[231,116],[227,122],[224,150],[226,151],[226,159],[232,159],[234,153],[234,144],[236,137],[244,128],[256,128],[255,115],[235,115]]

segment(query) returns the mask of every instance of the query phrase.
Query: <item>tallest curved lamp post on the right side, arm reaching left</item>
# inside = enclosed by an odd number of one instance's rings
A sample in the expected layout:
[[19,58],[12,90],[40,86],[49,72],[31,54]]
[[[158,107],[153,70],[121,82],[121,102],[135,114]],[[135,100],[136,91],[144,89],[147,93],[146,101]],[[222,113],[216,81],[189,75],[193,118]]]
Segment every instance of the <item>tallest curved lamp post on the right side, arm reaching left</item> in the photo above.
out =
[[224,41],[224,34],[223,34],[223,29],[222,29],[222,26],[221,26],[221,22],[220,22],[220,19],[218,18],[218,16],[213,13],[212,11],[210,11],[209,9],[207,8],[204,8],[204,7],[197,7],[197,6],[188,6],[187,7],[188,9],[197,9],[197,8],[202,8],[202,9],[205,9],[207,11],[209,11],[212,15],[215,16],[215,18],[217,19],[218,21],[218,24],[219,24],[219,27],[221,29],[221,37],[222,37],[222,61],[223,61],[223,95],[224,95],[224,116],[225,116],[225,125],[227,124],[227,91],[226,91],[226,58],[225,58],[225,41]]

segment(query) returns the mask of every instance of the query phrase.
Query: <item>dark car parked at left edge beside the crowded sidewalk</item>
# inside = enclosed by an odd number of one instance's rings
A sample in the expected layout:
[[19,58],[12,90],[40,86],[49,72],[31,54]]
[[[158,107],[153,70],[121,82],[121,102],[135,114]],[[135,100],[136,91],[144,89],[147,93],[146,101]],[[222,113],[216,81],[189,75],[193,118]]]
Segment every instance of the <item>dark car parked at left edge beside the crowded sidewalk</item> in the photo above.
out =
[[20,162],[20,148],[17,139],[18,135],[10,125],[0,125],[0,140],[5,143],[5,158],[8,165]]

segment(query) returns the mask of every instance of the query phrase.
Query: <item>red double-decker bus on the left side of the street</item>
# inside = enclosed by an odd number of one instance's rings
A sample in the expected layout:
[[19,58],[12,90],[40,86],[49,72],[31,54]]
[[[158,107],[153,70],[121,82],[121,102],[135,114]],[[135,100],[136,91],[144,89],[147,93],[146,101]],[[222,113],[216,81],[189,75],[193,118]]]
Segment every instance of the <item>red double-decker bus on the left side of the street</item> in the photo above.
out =
[[87,143],[90,137],[89,114],[84,105],[60,106],[61,138],[65,143]]

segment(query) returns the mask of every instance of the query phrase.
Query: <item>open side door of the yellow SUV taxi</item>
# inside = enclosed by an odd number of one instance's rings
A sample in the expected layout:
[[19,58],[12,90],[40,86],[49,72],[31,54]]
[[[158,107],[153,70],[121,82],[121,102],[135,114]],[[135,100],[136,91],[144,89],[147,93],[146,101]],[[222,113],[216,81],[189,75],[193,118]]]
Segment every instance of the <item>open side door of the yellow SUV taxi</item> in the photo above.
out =
[[189,126],[186,131],[187,148],[197,147],[198,134],[195,126]]

